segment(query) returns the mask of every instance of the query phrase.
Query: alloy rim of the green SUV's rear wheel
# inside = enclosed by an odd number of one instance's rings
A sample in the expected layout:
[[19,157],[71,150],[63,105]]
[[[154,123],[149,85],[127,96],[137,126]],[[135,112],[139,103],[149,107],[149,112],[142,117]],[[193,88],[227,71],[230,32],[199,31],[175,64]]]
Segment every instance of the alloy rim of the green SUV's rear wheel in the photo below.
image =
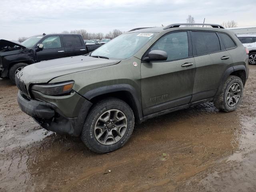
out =
[[230,86],[228,89],[228,94],[227,94],[227,103],[230,107],[235,106],[241,95],[241,87],[238,83],[234,83]]

